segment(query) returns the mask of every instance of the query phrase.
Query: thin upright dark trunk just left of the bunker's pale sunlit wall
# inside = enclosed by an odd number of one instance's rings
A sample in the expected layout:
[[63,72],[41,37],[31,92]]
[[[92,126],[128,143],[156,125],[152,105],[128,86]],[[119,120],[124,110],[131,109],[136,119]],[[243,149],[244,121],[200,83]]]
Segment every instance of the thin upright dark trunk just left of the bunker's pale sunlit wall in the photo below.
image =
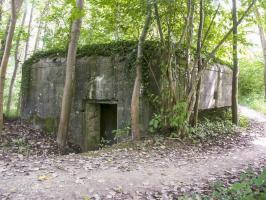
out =
[[[198,72],[202,69],[202,59],[201,59],[201,48],[202,48],[202,33],[204,26],[204,0],[200,0],[200,22],[198,29],[198,42],[197,42],[197,52],[196,52],[196,64],[198,66]],[[194,115],[193,115],[193,125],[196,126],[198,123],[199,115],[199,102],[200,102],[200,88],[201,88],[201,78],[199,79],[196,91],[196,101],[194,106]]]

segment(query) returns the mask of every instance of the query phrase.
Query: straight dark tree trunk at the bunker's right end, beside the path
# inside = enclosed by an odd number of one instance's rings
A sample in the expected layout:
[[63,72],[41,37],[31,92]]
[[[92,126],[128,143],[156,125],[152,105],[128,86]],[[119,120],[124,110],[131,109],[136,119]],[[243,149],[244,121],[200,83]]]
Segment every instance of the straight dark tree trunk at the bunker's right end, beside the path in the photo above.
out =
[[232,0],[233,16],[233,80],[232,80],[232,122],[238,125],[238,56],[237,56],[237,8],[236,0]]

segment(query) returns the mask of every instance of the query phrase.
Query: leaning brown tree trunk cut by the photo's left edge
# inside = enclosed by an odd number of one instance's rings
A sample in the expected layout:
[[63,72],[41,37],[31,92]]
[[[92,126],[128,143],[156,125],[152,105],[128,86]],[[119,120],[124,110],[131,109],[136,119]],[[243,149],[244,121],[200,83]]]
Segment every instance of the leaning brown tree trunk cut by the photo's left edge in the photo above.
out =
[[5,51],[1,62],[0,69],[0,131],[3,130],[4,117],[3,117],[3,105],[4,105],[4,88],[5,88],[5,79],[6,79],[6,70],[8,65],[8,60],[10,56],[10,51],[12,48],[12,40],[14,36],[14,31],[17,21],[17,13],[19,12],[23,0],[12,0],[11,1],[11,23],[8,30],[8,35],[5,44]]

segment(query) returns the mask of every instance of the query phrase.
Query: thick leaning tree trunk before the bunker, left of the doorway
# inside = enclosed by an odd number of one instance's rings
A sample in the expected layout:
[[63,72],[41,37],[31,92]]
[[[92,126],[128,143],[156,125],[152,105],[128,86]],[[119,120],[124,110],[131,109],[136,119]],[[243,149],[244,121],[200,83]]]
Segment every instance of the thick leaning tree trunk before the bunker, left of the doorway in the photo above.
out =
[[[83,0],[76,0],[76,6],[81,11],[83,9]],[[67,145],[68,126],[72,107],[75,80],[76,54],[81,23],[81,18],[75,19],[73,21],[71,28],[71,39],[68,46],[65,86],[61,106],[60,122],[57,133],[57,143],[62,152],[65,150]]]

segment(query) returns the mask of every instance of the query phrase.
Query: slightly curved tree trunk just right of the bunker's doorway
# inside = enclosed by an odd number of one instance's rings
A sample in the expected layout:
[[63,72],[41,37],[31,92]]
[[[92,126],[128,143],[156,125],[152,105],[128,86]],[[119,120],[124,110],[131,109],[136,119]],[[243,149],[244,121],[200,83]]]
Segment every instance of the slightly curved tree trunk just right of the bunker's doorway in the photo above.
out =
[[147,15],[142,33],[138,43],[138,53],[136,60],[136,78],[134,83],[134,89],[131,98],[131,128],[132,128],[132,139],[138,140],[141,137],[140,122],[139,122],[139,102],[140,102],[140,87],[142,79],[142,65],[141,61],[143,58],[143,44],[151,23],[151,5],[147,0]]

